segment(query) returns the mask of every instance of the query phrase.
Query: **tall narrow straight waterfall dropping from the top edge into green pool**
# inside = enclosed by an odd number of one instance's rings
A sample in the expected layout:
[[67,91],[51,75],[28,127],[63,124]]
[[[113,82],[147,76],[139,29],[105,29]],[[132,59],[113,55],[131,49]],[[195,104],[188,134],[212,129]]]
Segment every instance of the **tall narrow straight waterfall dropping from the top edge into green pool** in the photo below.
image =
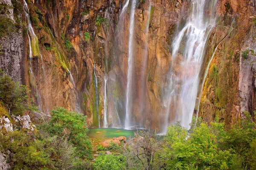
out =
[[131,81],[133,74],[134,65],[134,17],[136,9],[137,0],[133,0],[131,4],[131,16],[130,16],[130,26],[129,26],[129,43],[128,43],[128,74],[127,74],[127,87],[126,87],[126,105],[125,105],[125,129],[129,129],[131,125]]

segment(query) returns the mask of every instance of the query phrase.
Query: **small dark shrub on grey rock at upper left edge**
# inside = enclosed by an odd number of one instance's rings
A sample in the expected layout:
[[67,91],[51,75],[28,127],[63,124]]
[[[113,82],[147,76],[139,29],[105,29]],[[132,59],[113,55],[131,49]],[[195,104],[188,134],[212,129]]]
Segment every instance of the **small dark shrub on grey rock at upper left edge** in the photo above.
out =
[[5,36],[6,34],[12,33],[15,30],[15,25],[9,17],[1,16],[0,20],[0,37]]

